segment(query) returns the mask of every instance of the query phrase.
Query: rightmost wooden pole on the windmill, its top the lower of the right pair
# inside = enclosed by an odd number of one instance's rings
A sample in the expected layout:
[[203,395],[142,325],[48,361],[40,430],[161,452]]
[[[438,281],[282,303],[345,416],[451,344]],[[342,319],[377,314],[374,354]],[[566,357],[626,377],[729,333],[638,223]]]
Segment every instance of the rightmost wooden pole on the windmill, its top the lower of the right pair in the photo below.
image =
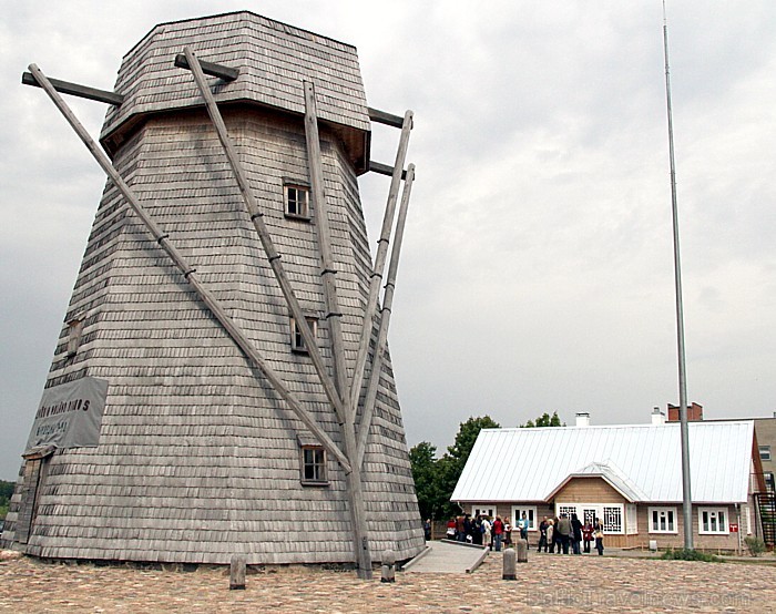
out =
[[[369,427],[371,426],[371,417],[375,412],[375,401],[377,399],[377,389],[380,383],[380,371],[382,370],[382,356],[388,344],[388,327],[390,326],[390,313],[394,306],[394,290],[396,289],[396,275],[399,270],[399,255],[401,253],[401,243],[405,237],[405,224],[407,223],[407,211],[409,208],[409,196],[412,193],[412,182],[415,181],[415,164],[407,167],[407,182],[401,193],[401,204],[399,205],[399,215],[396,221],[396,236],[394,248],[390,253],[390,265],[388,266],[388,279],[386,282],[386,291],[382,297],[382,313],[380,317],[380,328],[377,336],[377,347],[371,359],[371,373],[369,373],[369,383],[367,385],[367,396],[364,400],[364,409],[361,412],[361,421],[358,424],[358,450],[354,461],[356,467],[361,467],[364,462],[364,452],[367,447],[369,436]],[[351,457],[348,457],[351,458]]]

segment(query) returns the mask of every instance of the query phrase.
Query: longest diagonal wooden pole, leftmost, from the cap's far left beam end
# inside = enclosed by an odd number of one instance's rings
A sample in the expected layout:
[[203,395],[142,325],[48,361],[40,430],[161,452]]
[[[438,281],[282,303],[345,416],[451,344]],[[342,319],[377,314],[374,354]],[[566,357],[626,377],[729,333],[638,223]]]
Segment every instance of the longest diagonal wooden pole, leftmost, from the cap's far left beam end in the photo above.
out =
[[57,90],[42,73],[42,71],[35,65],[30,64],[30,72],[34,75],[38,83],[43,88],[45,93],[52,100],[57,109],[62,113],[68,123],[72,126],[75,133],[79,135],[81,141],[86,145],[86,149],[91,152],[94,160],[102,167],[102,170],[108,174],[111,181],[115,184],[116,188],[122,193],[126,202],[132,207],[137,217],[143,222],[147,231],[151,233],[153,238],[159,243],[159,245],[164,249],[167,255],[172,258],[175,266],[181,270],[184,278],[192,285],[196,290],[197,295],[202,301],[207,306],[211,313],[221,323],[224,329],[232,337],[234,342],[243,350],[248,360],[257,367],[267,380],[275,388],[277,393],[288,403],[294,413],[302,420],[302,422],[307,427],[310,432],[320,441],[321,446],[334,456],[343,467],[346,473],[351,472],[351,465],[348,459],[345,457],[339,447],[331,440],[331,438],[321,429],[315,418],[305,410],[299,402],[296,400],[290,390],[286,387],[283,379],[275,373],[275,371],[267,365],[261,354],[253,347],[243,330],[229,318],[229,316],[224,311],[215,297],[207,290],[207,288],[200,282],[196,276],[195,269],[192,268],[188,263],[183,258],[181,253],[170,243],[169,236],[163,233],[156,223],[151,218],[149,213],[145,211],[143,205],[140,203],[137,197],[134,195],[129,185],[121,177],[119,172],[115,170],[111,161],[108,158],[105,153],[100,149],[100,146],[94,142],[94,140],[89,135],[86,130],[83,127],[81,122],[75,117],[73,112],[70,110],[68,104],[62,100],[57,93]]

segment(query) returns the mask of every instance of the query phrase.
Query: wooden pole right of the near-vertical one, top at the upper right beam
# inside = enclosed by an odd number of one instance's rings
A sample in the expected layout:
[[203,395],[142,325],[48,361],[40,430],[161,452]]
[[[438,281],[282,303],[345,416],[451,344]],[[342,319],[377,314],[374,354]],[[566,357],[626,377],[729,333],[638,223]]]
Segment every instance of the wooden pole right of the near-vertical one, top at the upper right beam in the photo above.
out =
[[377,255],[375,256],[375,266],[369,280],[369,297],[367,307],[364,311],[364,323],[361,325],[361,339],[358,346],[358,356],[356,357],[356,368],[350,383],[349,409],[355,416],[358,411],[358,398],[361,393],[361,383],[367,365],[367,354],[369,352],[369,341],[371,340],[372,318],[377,308],[377,298],[380,293],[380,280],[382,279],[382,270],[386,266],[386,256],[388,254],[388,244],[390,243],[390,232],[394,226],[394,214],[396,213],[396,201],[399,194],[399,185],[401,183],[401,172],[405,167],[407,157],[407,147],[409,145],[409,134],[412,130],[412,112],[405,113],[405,120],[401,127],[401,136],[399,137],[399,147],[396,152],[396,163],[394,164],[394,176],[390,181],[388,190],[388,202],[386,203],[386,212],[382,216],[382,228],[380,238],[377,243]]

